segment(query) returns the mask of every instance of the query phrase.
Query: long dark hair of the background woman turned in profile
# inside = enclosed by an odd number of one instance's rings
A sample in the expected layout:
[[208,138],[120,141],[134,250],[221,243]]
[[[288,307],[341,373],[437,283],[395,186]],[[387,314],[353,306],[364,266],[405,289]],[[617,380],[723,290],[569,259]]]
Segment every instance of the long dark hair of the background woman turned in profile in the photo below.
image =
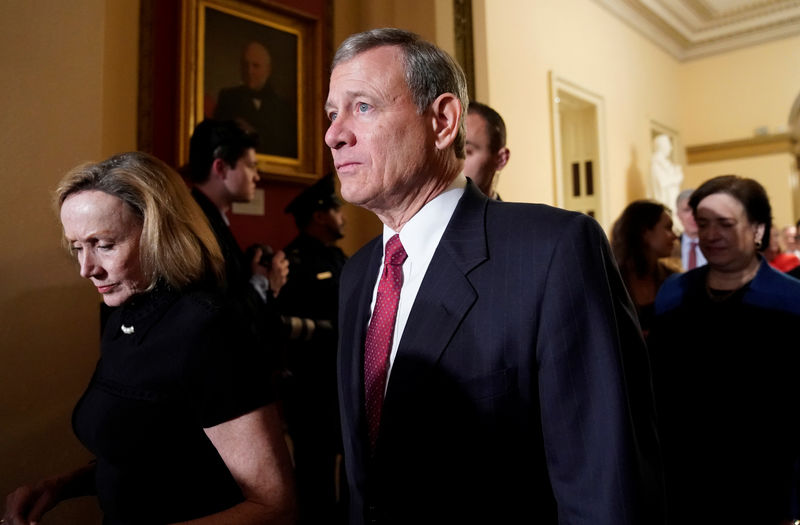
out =
[[611,230],[611,249],[623,272],[647,273],[647,247],[644,233],[655,228],[669,208],[653,200],[633,201],[622,211]]

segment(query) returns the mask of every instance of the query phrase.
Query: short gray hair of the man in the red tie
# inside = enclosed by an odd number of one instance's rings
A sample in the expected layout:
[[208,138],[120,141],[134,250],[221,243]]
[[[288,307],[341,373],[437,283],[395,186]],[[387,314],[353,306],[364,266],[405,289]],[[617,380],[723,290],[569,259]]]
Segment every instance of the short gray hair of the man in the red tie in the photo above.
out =
[[397,46],[403,51],[406,84],[420,114],[443,93],[452,93],[458,98],[462,114],[453,147],[456,157],[463,159],[467,136],[464,116],[469,106],[467,80],[461,66],[440,48],[426,42],[419,35],[402,29],[372,29],[351,35],[342,42],[333,57],[331,70],[361,53],[382,46]]

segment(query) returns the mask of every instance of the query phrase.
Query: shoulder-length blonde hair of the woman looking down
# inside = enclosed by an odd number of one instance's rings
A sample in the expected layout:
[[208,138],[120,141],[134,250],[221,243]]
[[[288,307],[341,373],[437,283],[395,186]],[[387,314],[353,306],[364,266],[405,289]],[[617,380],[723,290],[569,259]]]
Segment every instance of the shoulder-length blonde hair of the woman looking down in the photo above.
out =
[[141,220],[139,260],[148,290],[158,281],[175,289],[221,282],[225,261],[214,232],[183,179],[162,161],[130,152],[76,166],[56,188],[58,209],[83,191],[113,195]]

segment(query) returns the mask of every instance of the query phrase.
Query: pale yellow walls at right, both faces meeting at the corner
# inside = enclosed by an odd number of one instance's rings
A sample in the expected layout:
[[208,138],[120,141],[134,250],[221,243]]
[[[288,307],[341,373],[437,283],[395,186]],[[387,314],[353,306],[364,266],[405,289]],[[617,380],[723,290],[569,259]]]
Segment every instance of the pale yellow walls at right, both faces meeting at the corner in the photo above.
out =
[[[758,126],[785,124],[800,89],[800,37],[680,63],[590,0],[473,3],[477,97],[503,115],[512,151],[499,193],[555,202],[554,70],[605,100],[606,228],[628,202],[650,195],[651,121],[678,131],[683,146],[747,138]],[[790,161],[748,159],[736,170],[767,186],[781,223],[792,220]],[[684,187],[715,171],[684,166]]]

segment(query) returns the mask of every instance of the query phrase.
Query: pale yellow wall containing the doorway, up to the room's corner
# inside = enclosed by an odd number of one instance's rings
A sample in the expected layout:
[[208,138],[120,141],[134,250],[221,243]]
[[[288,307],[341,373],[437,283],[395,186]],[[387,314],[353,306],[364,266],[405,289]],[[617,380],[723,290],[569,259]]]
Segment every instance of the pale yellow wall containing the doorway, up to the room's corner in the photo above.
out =
[[608,227],[649,191],[650,120],[678,127],[678,63],[590,0],[483,4],[486,64],[477,69],[486,80],[478,97],[503,115],[512,151],[499,193],[554,202],[547,76],[554,70],[605,100]]

